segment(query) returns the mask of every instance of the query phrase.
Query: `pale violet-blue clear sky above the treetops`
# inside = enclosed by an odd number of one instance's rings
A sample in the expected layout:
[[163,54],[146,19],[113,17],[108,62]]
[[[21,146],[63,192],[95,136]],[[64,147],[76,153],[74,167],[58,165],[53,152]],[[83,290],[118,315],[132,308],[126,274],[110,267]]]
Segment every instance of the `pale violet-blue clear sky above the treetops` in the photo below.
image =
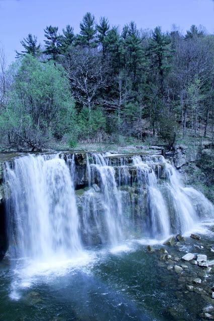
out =
[[108,17],[111,25],[119,26],[135,21],[140,29],[161,26],[170,31],[175,24],[185,33],[192,24],[202,25],[214,33],[213,0],[0,0],[0,47],[4,48],[7,63],[21,51],[20,41],[29,33],[43,43],[46,26],[58,26],[59,32],[67,24],[79,32],[79,23],[86,12],[96,20]]

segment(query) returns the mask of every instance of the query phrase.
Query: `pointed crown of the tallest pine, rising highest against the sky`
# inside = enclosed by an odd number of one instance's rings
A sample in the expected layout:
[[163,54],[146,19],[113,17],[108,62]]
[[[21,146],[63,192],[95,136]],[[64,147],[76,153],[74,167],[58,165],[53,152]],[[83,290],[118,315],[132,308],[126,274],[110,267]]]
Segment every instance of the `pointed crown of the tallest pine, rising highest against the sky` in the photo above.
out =
[[97,45],[95,35],[95,18],[87,12],[80,23],[80,35],[77,38],[77,44],[95,48]]

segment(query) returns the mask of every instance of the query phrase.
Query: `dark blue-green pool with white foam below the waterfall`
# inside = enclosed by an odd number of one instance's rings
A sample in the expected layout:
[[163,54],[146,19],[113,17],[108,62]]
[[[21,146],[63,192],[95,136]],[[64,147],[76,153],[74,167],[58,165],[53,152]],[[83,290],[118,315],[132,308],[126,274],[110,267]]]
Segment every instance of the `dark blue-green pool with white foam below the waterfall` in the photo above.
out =
[[[193,244],[189,239],[181,252],[168,250],[181,257]],[[197,315],[206,303],[197,293],[185,293],[180,276],[168,271],[159,257],[158,251],[148,253],[137,242],[114,251],[88,249],[76,266],[29,262],[24,268],[20,261],[14,267],[6,257],[0,263],[0,320],[199,321]],[[192,269],[184,276],[202,271]],[[212,281],[212,275],[205,280]]]

